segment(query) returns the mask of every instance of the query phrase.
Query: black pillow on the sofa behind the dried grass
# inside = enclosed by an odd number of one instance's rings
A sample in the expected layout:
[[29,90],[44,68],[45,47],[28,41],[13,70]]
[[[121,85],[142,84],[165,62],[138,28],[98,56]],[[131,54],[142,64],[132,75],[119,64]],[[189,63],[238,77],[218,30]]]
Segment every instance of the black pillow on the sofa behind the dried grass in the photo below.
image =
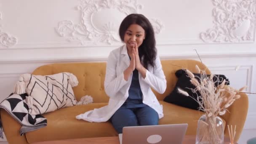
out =
[[[200,77],[200,74],[196,74],[196,73],[193,73],[193,74],[195,75],[195,78]],[[192,96],[193,98],[197,99],[197,95],[200,96],[200,93],[197,91],[197,94],[196,94],[196,93],[193,93],[191,90],[187,89],[187,88],[194,89],[195,85],[193,85],[190,82],[191,79],[187,76],[187,73],[185,72],[185,70],[179,69],[175,72],[175,75],[178,78],[175,88],[168,96],[165,97],[163,101],[171,104],[176,104],[181,107],[187,107],[190,109],[199,110],[199,104],[197,103],[197,101],[195,101],[189,96]],[[207,76],[210,76],[210,75],[207,75]],[[219,79],[219,82],[215,83],[216,87],[220,85],[223,80],[226,80],[225,85],[229,85],[229,80],[225,77],[225,75],[215,75],[213,77],[213,81],[216,81],[218,79]],[[189,96],[184,96],[183,94],[178,93],[177,88],[181,88],[187,91]]]

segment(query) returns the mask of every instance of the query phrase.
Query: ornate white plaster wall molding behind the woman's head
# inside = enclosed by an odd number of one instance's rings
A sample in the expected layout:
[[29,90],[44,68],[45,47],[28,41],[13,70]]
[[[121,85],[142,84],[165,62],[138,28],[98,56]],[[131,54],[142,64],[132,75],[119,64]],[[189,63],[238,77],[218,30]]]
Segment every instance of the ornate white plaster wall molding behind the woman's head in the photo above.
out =
[[[121,20],[130,13],[138,13],[140,9],[142,5],[137,0],[81,0],[77,6],[81,12],[80,24],[70,20],[60,21],[56,32],[61,37],[68,37],[69,42],[81,45],[120,43],[118,28]],[[156,34],[160,33],[162,22],[150,20]]]

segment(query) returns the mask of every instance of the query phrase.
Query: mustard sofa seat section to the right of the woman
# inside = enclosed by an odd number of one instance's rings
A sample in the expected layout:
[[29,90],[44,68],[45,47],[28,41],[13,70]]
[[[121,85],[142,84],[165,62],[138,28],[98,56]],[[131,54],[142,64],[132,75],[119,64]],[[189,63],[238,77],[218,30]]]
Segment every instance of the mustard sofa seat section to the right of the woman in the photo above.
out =
[[[186,135],[196,135],[197,122],[201,115],[205,114],[204,112],[170,104],[165,101],[159,102],[163,104],[164,114],[164,117],[159,120],[159,125],[187,123],[188,128]],[[223,118],[221,119],[225,128],[226,121]]]

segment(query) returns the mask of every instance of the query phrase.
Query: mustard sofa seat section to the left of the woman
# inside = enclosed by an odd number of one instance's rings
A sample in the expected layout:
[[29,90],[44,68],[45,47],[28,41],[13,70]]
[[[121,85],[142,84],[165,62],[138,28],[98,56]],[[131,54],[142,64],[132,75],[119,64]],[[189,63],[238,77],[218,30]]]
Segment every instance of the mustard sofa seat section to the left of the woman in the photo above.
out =
[[60,139],[117,136],[117,132],[110,122],[90,123],[75,118],[76,115],[105,105],[107,103],[92,103],[61,108],[54,112],[44,114],[43,116],[47,118],[47,126],[26,133],[27,141],[33,143]]

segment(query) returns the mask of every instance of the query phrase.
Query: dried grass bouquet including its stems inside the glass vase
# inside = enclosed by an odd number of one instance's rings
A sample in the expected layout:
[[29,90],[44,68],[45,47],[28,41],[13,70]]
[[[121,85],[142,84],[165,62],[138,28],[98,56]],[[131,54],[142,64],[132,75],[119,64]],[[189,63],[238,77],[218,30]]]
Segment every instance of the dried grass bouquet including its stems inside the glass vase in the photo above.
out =
[[[186,89],[178,88],[178,92],[197,101],[200,106],[199,109],[205,112],[208,121],[208,126],[203,130],[203,138],[205,141],[216,144],[218,141],[221,141],[218,133],[219,130],[216,128],[218,115],[225,115],[226,112],[228,112],[227,108],[230,107],[236,99],[241,97],[239,93],[245,90],[246,86],[236,90],[235,88],[225,86],[226,80],[219,80],[219,77],[213,74],[208,77],[205,70],[201,70],[197,65],[195,69],[200,73],[200,77],[195,77],[188,69],[185,70],[187,76],[191,79],[190,82],[195,85],[194,89],[187,89],[196,94],[199,92],[200,95],[195,99],[189,96]],[[215,83],[220,83],[220,85],[216,87]],[[234,139],[235,136],[232,137]]]

